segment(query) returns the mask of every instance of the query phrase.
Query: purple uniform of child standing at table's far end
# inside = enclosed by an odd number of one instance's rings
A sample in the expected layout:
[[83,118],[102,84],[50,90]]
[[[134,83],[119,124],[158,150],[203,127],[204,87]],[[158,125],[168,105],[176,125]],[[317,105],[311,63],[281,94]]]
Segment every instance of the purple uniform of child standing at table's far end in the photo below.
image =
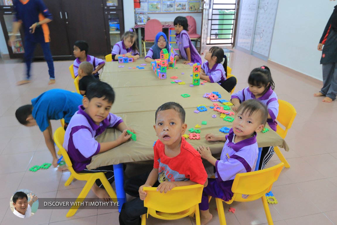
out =
[[189,35],[186,30],[182,30],[179,34],[176,33],[176,41],[178,44],[178,48],[180,51],[181,57],[184,59],[187,59],[187,54],[186,54],[186,48],[190,48],[191,52],[191,62],[192,63],[200,63],[202,64],[201,61],[201,56],[199,55],[198,51],[196,51],[196,48],[191,42],[191,39],[189,38]]

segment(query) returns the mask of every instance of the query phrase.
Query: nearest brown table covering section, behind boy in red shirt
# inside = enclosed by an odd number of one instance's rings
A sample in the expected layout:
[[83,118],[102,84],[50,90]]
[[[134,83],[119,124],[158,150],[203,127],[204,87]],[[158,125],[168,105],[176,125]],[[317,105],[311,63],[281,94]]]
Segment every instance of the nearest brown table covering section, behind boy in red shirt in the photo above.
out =
[[[210,101],[210,104],[207,104],[207,106],[210,106],[211,104],[212,103]],[[205,139],[205,135],[207,133],[226,135],[219,132],[219,129],[222,126],[232,127],[232,123],[221,119],[220,113],[214,111],[213,109],[210,109],[209,107],[208,111],[206,112],[194,113],[194,110],[195,109],[185,108],[185,123],[187,123],[187,130],[185,134],[189,134],[190,132],[188,131],[188,129],[194,128],[196,124],[199,124],[201,125],[201,128],[198,128],[201,130],[201,139],[187,139],[187,141],[195,148],[199,145],[205,145],[211,148],[213,154],[220,153],[223,148],[224,142],[208,142]],[[217,115],[217,117],[212,118],[213,114]],[[119,163],[153,160],[153,143],[158,139],[153,128],[153,125],[155,124],[155,111],[124,113],[119,114],[119,116],[123,118],[128,126],[136,131],[137,140],[129,140],[114,149],[94,156],[91,163],[87,166],[88,169],[94,169],[99,166],[113,165]],[[202,125],[202,121],[207,121],[207,125]],[[269,128],[268,125],[267,127]],[[120,134],[121,132],[118,130],[107,129],[97,138],[97,140],[99,142],[113,141]],[[289,151],[286,142],[275,131],[271,129],[267,133],[258,133],[257,143],[259,147],[280,146],[286,151]]]

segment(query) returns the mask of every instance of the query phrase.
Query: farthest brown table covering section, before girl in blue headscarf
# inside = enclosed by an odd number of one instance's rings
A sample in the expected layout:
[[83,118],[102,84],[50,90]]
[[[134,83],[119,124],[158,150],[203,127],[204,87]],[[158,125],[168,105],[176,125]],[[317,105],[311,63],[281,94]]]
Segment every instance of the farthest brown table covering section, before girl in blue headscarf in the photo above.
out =
[[[191,68],[191,71],[192,71],[193,66],[190,66],[189,64],[187,65],[183,64],[184,61],[185,60],[183,59],[178,60],[175,67],[177,67],[178,69]],[[141,64],[146,64],[146,65],[142,66]],[[124,66],[124,67],[118,67],[118,66]],[[139,68],[129,69],[129,67],[133,68],[137,66],[144,67],[144,69],[139,69]],[[145,71],[152,70],[151,62],[145,62],[144,59],[137,59],[135,62],[131,62],[131,63],[118,63],[118,61],[105,62],[105,65],[103,67],[103,73],[104,72],[125,72],[125,71],[139,72],[139,71],[144,71],[144,70]]]

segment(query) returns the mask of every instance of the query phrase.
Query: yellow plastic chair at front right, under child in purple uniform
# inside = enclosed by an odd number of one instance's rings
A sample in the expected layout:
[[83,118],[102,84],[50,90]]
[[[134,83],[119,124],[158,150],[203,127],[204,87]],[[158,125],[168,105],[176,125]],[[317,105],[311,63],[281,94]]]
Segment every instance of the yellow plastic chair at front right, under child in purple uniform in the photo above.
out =
[[[268,202],[266,199],[266,193],[270,192],[270,190],[272,189],[273,183],[280,175],[283,166],[284,164],[280,163],[276,166],[263,170],[248,173],[238,173],[235,176],[232,185],[232,192],[234,193],[234,195],[232,199],[227,201],[226,203],[231,204],[233,201],[248,202],[261,198],[268,224],[273,225],[272,216],[270,214]],[[242,195],[248,195],[248,197],[243,198]],[[226,218],[222,204],[223,200],[220,198],[215,198],[215,202],[216,207],[218,208],[220,225],[226,225]]]

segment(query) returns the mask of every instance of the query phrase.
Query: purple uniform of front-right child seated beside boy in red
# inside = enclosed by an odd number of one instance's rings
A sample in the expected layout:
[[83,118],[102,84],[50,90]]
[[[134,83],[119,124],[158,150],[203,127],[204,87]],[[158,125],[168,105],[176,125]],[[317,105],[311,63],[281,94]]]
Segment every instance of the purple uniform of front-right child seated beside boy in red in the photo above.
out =
[[237,143],[234,142],[235,134],[233,128],[226,135],[220,160],[215,163],[215,179],[208,178],[208,185],[203,190],[199,208],[207,210],[208,196],[221,198],[224,201],[233,197],[232,185],[236,174],[255,170],[258,156],[256,132],[254,136]]

